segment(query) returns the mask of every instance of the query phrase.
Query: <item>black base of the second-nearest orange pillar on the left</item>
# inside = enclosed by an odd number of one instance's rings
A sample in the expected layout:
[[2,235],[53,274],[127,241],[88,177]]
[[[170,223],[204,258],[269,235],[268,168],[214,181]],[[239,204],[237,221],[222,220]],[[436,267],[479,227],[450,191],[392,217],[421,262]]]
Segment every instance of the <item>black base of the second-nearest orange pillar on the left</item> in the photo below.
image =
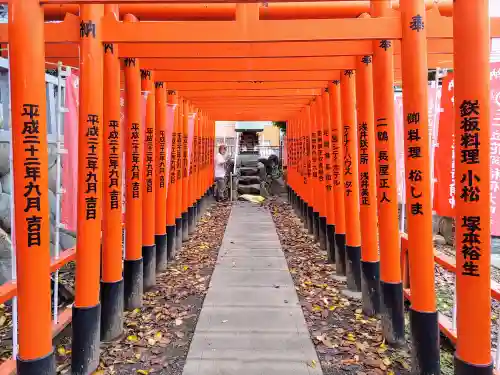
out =
[[71,375],[89,375],[99,366],[101,305],[73,306]]

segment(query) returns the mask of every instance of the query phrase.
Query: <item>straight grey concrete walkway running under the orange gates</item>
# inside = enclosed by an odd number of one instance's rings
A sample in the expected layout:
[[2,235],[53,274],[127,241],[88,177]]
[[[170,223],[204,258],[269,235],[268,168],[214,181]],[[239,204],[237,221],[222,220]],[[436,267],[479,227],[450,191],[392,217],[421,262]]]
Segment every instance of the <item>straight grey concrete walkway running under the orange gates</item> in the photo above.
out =
[[322,374],[271,215],[246,202],[233,206],[183,372],[236,374]]

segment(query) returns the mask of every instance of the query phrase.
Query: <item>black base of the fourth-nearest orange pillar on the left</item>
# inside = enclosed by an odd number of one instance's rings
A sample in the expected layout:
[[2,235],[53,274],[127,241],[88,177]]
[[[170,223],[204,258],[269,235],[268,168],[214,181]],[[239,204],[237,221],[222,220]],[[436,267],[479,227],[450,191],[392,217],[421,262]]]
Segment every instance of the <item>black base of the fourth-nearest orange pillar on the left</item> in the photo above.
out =
[[142,258],[123,261],[123,295],[127,311],[142,307],[143,271]]

